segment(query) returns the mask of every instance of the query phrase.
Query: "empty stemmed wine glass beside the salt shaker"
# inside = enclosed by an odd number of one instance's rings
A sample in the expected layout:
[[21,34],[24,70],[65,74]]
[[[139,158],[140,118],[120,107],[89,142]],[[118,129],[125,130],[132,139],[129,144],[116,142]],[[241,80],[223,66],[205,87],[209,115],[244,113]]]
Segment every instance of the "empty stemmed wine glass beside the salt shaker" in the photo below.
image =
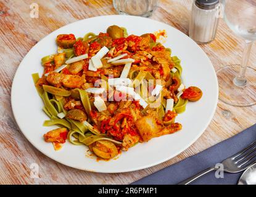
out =
[[247,66],[256,40],[256,0],[225,0],[224,19],[237,36],[244,38],[241,65],[225,66],[217,71],[219,98],[236,107],[256,104],[256,70]]

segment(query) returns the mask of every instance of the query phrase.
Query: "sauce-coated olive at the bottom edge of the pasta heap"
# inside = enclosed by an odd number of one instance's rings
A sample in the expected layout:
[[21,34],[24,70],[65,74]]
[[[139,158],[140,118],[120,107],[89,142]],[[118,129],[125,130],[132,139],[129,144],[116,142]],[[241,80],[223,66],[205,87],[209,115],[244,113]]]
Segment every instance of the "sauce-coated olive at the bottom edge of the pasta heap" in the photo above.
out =
[[118,155],[117,147],[108,140],[99,140],[91,145],[94,154],[102,159],[111,159]]

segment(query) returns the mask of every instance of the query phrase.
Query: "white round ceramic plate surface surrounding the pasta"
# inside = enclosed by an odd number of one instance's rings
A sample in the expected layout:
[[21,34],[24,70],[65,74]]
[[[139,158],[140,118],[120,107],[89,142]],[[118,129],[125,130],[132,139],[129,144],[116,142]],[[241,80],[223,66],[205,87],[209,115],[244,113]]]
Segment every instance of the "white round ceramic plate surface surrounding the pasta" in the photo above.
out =
[[[182,131],[164,135],[139,143],[129,151],[123,152],[118,159],[96,161],[86,156],[85,146],[75,146],[66,142],[62,150],[54,151],[52,143],[46,143],[43,134],[52,129],[43,127],[48,119],[41,110],[43,102],[39,98],[32,73],[43,73],[41,58],[56,53],[55,39],[58,34],[73,33],[76,38],[88,32],[105,32],[110,25],[125,26],[129,34],[141,35],[157,30],[167,31],[166,47],[172,55],[181,59],[183,82],[186,87],[198,86],[203,91],[199,102],[189,102],[185,113],[178,115],[176,121],[183,125]],[[20,63],[12,84],[12,110],[25,137],[44,155],[77,169],[93,172],[129,172],[151,167],[178,155],[194,143],[209,125],[218,100],[218,82],[215,70],[207,55],[188,36],[175,28],[148,18],[110,15],[87,18],[66,25],[39,41]],[[54,127],[53,127],[54,128]]]

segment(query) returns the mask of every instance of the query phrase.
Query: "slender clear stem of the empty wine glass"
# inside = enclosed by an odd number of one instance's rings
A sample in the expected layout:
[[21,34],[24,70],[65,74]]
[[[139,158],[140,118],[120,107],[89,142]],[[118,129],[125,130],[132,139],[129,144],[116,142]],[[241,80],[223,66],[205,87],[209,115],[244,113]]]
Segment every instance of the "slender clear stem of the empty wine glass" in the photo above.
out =
[[252,41],[246,41],[246,48],[244,49],[244,53],[242,55],[242,64],[239,73],[234,78],[233,82],[236,86],[243,87],[246,86],[246,68],[247,63],[250,57],[250,50],[252,49]]

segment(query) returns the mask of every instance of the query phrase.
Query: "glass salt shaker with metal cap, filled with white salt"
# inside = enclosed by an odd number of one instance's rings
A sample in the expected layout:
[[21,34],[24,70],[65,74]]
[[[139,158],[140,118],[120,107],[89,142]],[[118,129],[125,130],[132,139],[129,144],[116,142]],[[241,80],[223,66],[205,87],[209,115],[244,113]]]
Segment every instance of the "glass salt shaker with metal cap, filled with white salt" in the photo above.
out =
[[192,4],[189,36],[197,44],[215,39],[220,15],[220,0],[195,0]]

